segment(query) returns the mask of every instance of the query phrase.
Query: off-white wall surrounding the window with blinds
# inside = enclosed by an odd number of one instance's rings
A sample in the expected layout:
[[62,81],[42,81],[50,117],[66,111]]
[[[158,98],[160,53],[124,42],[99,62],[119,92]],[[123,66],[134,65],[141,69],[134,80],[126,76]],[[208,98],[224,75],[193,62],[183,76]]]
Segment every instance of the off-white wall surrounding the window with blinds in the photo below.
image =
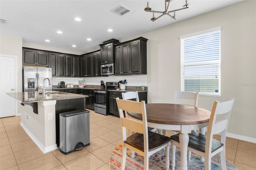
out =
[[211,110],[215,100],[234,97],[228,132],[256,142],[256,1],[239,2],[126,40],[148,39],[148,103],[172,103],[174,91],[180,90],[179,36],[216,27],[221,27],[221,97],[200,96],[198,107]]

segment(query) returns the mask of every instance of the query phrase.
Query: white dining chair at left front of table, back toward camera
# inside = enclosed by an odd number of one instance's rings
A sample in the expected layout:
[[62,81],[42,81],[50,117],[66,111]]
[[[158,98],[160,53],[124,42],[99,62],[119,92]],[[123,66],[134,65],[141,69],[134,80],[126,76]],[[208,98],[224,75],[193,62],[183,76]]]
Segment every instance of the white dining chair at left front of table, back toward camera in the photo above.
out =
[[[149,156],[165,148],[165,165],[166,169],[169,169],[170,138],[148,130],[145,101],[121,100],[117,97],[116,103],[122,127],[121,169],[124,170],[125,168],[127,148],[144,156],[145,170],[149,169]],[[141,114],[142,122],[124,117],[124,112],[126,115],[127,112]],[[135,133],[127,137],[126,128],[133,130]]]

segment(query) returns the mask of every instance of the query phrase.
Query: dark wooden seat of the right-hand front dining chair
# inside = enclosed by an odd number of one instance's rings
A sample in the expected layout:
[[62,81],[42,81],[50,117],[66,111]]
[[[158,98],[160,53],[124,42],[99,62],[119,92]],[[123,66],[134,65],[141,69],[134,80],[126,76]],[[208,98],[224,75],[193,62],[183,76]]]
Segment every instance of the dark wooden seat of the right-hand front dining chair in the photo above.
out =
[[[188,136],[189,136],[189,141],[188,141],[189,148],[199,150],[200,152],[205,152],[206,135],[195,132],[195,131],[191,131],[191,133],[188,134]],[[179,134],[175,134],[171,136],[171,139],[176,142],[180,142]],[[221,148],[222,146],[224,146],[224,144],[220,143],[220,141],[214,138],[212,139],[212,152],[214,152],[218,148]]]

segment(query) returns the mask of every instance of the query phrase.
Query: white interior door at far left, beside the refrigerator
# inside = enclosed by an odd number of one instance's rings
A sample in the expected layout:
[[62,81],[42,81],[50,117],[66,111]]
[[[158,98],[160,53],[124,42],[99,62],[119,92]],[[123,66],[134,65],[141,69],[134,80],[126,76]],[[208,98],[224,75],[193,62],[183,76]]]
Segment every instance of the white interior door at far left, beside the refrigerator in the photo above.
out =
[[0,56],[0,117],[15,115],[15,99],[6,93],[15,92],[15,57]]

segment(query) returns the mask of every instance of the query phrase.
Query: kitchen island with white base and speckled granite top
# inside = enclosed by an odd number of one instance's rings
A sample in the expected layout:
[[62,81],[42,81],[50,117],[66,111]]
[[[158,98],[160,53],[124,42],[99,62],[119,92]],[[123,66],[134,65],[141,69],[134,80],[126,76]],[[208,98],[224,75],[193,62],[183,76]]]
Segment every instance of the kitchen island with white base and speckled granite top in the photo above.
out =
[[57,149],[59,143],[59,113],[85,109],[88,95],[49,91],[40,95],[37,91],[7,93],[21,103],[20,125],[42,152]]

